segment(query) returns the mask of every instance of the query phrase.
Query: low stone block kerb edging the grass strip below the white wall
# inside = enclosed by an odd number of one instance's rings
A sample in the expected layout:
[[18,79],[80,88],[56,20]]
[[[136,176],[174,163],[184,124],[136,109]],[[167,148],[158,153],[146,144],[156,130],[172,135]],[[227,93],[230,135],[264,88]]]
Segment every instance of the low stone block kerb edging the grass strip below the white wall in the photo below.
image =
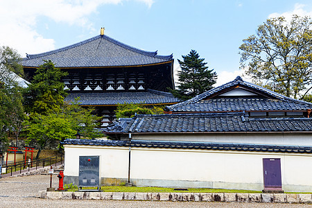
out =
[[311,203],[312,194],[294,193],[135,193],[39,191],[38,198],[51,200],[150,200],[187,202]]

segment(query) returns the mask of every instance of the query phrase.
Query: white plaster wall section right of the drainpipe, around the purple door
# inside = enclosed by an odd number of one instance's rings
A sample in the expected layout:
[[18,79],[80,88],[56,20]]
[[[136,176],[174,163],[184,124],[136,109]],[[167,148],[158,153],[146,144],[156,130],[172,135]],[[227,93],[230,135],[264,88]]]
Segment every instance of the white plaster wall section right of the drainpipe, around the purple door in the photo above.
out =
[[263,184],[262,159],[280,158],[283,186],[312,190],[311,154],[132,148],[131,157],[134,179],[238,183],[238,187],[240,183]]

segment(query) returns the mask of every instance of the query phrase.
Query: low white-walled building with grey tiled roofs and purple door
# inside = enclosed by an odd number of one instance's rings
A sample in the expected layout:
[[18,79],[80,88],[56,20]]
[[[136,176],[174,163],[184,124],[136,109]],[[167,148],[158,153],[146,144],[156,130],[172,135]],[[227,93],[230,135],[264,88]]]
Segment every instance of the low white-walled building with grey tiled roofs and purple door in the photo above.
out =
[[115,141],[66,139],[66,183],[94,155],[101,184],[311,192],[311,109],[237,77],[167,114],[119,119]]

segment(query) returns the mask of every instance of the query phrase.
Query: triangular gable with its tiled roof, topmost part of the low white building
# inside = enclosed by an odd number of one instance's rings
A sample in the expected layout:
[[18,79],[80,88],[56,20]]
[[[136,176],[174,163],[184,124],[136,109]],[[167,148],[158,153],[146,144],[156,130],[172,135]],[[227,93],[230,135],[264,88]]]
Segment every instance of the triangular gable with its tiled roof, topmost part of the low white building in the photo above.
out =
[[194,98],[166,107],[168,114],[245,112],[255,117],[309,117],[312,103],[245,82],[240,76]]

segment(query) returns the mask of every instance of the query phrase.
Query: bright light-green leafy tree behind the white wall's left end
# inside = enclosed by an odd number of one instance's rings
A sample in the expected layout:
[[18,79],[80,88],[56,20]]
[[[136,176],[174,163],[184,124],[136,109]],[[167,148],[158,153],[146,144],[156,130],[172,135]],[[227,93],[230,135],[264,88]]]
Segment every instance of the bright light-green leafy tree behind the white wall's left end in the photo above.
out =
[[103,137],[95,130],[100,124],[101,117],[92,112],[94,109],[85,109],[79,106],[79,98],[71,103],[64,103],[58,111],[49,111],[44,114],[33,114],[27,121],[27,144],[38,144],[39,157],[41,150],[46,148],[62,148],[60,141],[74,138],[77,133],[85,139]]

